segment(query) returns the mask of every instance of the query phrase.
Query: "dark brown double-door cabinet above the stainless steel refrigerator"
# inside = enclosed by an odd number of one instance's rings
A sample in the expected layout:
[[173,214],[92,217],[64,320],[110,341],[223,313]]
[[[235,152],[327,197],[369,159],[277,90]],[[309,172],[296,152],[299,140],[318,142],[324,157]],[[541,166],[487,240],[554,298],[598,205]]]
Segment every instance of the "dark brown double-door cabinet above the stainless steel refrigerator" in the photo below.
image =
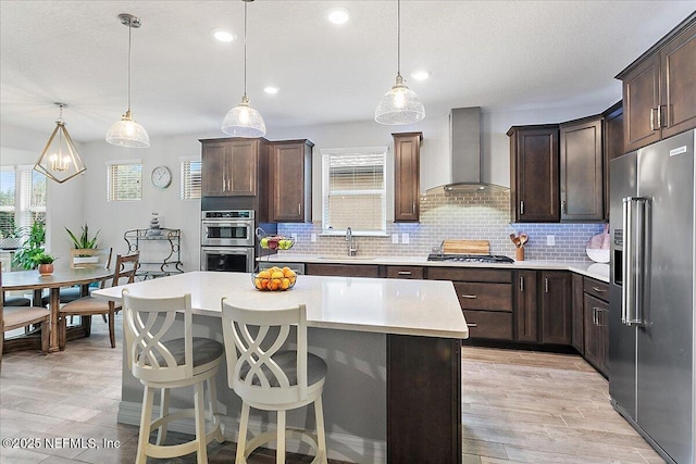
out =
[[696,127],[696,13],[623,70],[624,152]]

